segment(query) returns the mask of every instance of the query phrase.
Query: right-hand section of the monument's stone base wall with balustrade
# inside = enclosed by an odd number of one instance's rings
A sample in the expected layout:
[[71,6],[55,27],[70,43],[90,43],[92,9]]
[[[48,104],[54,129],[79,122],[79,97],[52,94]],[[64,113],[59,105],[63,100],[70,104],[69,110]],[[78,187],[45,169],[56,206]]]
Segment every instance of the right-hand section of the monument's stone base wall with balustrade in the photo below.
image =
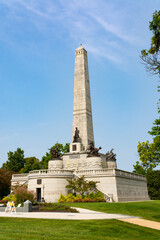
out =
[[119,169],[77,171],[87,180],[99,181],[97,187],[104,194],[113,195],[115,202],[150,200],[146,177]]

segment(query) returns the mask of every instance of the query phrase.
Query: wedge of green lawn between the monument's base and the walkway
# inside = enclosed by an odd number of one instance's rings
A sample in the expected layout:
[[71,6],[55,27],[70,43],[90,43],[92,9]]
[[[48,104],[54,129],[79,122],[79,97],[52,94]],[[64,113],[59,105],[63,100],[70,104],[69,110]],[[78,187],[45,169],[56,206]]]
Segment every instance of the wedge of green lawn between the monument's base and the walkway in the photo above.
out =
[[127,203],[65,203],[105,213],[121,213],[160,222],[160,201]]

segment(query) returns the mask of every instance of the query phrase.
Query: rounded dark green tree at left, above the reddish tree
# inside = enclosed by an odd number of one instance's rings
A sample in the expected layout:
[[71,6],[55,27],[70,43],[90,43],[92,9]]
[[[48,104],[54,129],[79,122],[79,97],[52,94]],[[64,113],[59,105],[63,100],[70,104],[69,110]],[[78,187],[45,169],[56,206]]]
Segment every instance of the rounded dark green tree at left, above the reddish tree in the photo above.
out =
[[8,153],[8,161],[3,163],[2,168],[18,173],[21,168],[24,168],[24,151],[17,148],[15,152]]

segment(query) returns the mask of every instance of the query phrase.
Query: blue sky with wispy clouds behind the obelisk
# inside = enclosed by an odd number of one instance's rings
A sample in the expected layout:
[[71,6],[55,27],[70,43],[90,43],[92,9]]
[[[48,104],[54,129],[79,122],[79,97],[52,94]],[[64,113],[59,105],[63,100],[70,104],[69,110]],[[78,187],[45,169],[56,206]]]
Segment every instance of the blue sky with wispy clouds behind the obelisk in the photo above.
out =
[[88,51],[96,146],[133,170],[157,117],[158,77],[139,58],[160,0],[0,0],[0,165],[71,142],[74,50]]

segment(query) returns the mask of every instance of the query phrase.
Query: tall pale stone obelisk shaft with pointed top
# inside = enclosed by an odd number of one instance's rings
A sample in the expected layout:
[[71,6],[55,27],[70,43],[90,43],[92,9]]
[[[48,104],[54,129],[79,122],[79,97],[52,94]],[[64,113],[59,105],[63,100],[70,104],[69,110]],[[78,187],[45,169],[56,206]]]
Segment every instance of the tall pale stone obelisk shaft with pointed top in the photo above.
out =
[[72,140],[75,129],[79,130],[82,150],[94,142],[92,108],[88,74],[87,51],[81,45],[75,50],[74,102]]

